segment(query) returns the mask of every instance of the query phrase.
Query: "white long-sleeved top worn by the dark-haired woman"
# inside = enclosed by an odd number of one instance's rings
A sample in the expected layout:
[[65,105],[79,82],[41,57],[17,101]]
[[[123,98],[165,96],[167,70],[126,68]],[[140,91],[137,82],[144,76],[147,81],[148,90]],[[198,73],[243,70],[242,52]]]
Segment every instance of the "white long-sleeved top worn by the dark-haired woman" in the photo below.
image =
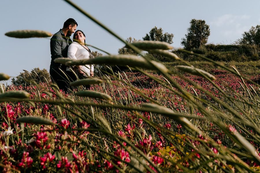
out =
[[[84,48],[77,42],[72,42],[68,47],[68,58],[78,60],[78,59],[89,59],[90,56],[86,48]],[[94,72],[94,65],[86,64],[85,66],[82,65],[81,67],[84,69],[86,74],[90,76],[90,71]],[[70,71],[69,67],[66,68],[66,71]]]

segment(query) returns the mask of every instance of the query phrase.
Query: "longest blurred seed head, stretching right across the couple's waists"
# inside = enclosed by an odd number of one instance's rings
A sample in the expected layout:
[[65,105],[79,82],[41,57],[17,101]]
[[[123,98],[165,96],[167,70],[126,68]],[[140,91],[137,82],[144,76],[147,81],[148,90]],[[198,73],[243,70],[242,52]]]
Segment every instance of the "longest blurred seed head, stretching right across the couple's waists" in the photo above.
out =
[[[151,61],[159,70],[167,73],[168,69],[161,63]],[[68,61],[65,65],[86,65],[86,64],[105,64],[105,65],[128,65],[130,67],[141,67],[145,69],[157,70],[153,65],[142,57],[134,55],[107,55],[96,57],[94,59],[81,59],[75,61]]]

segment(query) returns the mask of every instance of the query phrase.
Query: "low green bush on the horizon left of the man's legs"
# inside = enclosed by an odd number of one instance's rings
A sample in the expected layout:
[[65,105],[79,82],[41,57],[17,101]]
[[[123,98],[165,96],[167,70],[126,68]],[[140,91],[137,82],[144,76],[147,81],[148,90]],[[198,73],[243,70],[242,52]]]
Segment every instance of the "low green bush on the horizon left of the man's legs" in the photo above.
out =
[[31,73],[25,71],[20,73],[16,78],[12,78],[12,83],[16,86],[26,86],[30,84],[30,81],[34,80],[36,83],[51,81],[49,72],[46,69],[40,69],[39,67],[31,70]]

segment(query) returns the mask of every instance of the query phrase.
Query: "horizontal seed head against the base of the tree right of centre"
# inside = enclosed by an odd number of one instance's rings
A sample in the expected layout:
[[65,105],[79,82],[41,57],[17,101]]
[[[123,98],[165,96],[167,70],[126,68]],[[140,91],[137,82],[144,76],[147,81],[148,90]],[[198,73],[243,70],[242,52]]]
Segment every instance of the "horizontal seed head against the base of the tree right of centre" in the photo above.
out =
[[[159,41],[139,41],[131,43],[133,46],[142,49],[142,50],[151,50],[151,49],[162,49],[162,50],[169,50],[173,49],[173,47],[166,43],[166,42],[159,42]],[[125,46],[129,48],[128,46]]]

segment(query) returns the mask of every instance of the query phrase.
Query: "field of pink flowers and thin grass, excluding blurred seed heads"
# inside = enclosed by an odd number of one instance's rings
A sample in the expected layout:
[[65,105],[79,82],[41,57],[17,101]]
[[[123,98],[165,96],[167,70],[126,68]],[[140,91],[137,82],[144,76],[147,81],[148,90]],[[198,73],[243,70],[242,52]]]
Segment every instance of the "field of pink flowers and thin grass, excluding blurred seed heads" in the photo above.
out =
[[[94,84],[90,90],[106,93],[112,101],[65,94],[47,83],[3,87],[5,92],[27,91],[30,97],[24,101],[10,98],[0,104],[0,171],[259,171],[257,159],[233,137],[241,134],[259,157],[258,131],[253,126],[259,123],[259,88],[243,84],[224,70],[214,69],[212,73],[216,86],[199,76],[171,76],[199,98],[198,105],[212,116],[181,97],[177,86],[165,87],[165,78],[153,73],[148,75],[164,82],[140,72],[101,77],[104,83]],[[145,103],[158,103],[174,113],[146,111]],[[17,122],[22,116],[45,120],[42,124],[38,120]],[[183,121],[186,118],[188,123]],[[53,125],[46,125],[47,120]],[[197,130],[192,129],[195,127]]]

